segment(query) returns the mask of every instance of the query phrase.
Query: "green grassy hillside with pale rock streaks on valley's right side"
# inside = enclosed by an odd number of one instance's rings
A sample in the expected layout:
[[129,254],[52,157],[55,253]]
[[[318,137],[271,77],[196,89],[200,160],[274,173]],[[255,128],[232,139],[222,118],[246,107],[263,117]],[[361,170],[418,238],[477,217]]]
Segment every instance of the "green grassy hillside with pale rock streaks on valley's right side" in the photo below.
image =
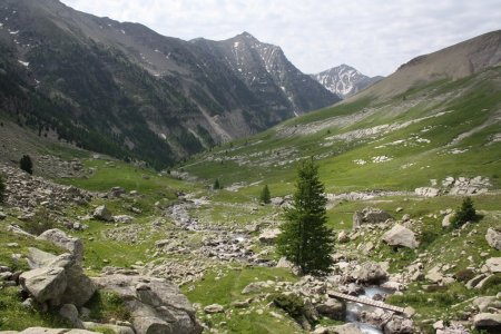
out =
[[[499,188],[500,75],[497,67],[439,80],[385,102],[355,99],[198,155],[183,168],[226,186],[266,181],[275,195],[291,191],[293,167],[310,156],[332,193],[413,190],[430,179],[478,175]],[[255,191],[240,191],[247,190]]]

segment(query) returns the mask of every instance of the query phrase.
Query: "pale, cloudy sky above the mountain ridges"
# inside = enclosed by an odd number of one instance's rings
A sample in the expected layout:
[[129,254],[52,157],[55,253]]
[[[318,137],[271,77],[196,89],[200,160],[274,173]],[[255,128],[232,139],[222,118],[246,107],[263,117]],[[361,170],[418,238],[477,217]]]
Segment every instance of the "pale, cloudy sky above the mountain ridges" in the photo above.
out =
[[247,31],[305,73],[346,63],[387,76],[402,63],[501,29],[501,0],[61,0],[185,40]]

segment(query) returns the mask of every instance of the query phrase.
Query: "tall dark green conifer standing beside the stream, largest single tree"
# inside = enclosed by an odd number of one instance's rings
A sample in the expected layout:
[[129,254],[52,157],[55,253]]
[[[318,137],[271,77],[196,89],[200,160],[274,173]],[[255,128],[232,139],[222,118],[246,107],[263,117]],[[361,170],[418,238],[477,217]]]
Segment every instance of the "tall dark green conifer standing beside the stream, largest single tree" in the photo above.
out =
[[297,170],[296,191],[292,208],[285,212],[285,223],[277,239],[277,250],[299,266],[303,274],[330,272],[334,250],[332,230],[327,228],[324,185],[318,179],[318,166],[305,160]]

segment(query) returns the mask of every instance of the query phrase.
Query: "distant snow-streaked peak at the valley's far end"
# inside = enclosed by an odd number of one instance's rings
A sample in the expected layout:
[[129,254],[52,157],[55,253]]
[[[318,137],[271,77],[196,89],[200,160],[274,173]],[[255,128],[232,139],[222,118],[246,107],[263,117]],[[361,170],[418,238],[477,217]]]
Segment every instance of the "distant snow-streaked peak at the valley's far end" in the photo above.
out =
[[312,78],[343,98],[350,97],[383,79],[381,76],[367,77],[345,63],[312,75]]

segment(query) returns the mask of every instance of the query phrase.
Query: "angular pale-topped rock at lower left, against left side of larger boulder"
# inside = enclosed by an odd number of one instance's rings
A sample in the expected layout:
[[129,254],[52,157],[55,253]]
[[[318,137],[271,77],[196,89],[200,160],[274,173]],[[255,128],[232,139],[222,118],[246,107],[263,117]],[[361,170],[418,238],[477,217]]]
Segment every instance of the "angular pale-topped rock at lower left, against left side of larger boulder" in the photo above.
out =
[[37,302],[59,305],[67,287],[67,277],[63,268],[45,267],[22,273],[20,283]]

